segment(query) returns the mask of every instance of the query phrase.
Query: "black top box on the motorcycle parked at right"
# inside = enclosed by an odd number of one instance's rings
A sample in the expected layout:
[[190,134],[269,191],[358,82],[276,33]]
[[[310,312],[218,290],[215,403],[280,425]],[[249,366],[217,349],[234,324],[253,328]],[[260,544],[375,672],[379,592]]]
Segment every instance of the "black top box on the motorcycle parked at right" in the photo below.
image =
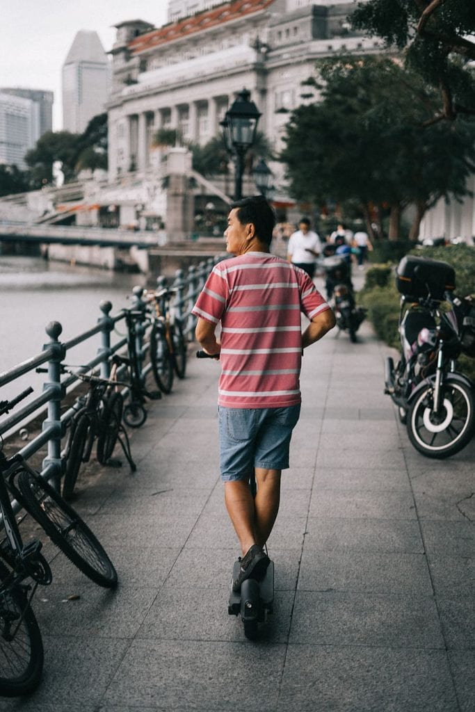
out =
[[455,289],[455,271],[447,262],[406,255],[397,266],[396,286],[407,298],[443,300],[444,292]]

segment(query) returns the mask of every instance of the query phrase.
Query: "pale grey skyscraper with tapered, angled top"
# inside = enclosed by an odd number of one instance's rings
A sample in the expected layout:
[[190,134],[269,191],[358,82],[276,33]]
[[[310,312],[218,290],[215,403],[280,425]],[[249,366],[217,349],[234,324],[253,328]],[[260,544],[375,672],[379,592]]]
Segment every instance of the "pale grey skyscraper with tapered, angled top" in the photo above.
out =
[[63,64],[63,129],[82,133],[105,110],[110,69],[97,32],[80,30]]

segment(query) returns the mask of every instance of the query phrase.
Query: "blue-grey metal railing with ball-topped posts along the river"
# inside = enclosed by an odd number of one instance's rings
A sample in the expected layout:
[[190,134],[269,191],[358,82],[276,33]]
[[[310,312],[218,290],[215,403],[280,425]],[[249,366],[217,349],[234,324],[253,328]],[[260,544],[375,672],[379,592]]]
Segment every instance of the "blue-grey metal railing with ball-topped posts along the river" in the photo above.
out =
[[[183,330],[187,340],[193,339],[194,326],[196,318],[192,315],[192,308],[204,286],[207,276],[216,261],[222,258],[216,256],[203,261],[198,266],[190,266],[187,271],[177,270],[174,281],[170,286],[174,290],[174,297],[170,306],[171,310],[182,321]],[[167,279],[160,276],[157,279],[158,287],[165,286]],[[132,306],[133,308],[145,309],[145,303],[141,300],[142,288],[133,290]],[[19,365],[0,374],[0,388],[15,379],[32,372],[43,364],[47,364],[47,381],[43,384],[43,392],[31,399],[24,407],[16,410],[9,417],[3,419],[0,423],[0,436],[6,432],[12,431],[14,426],[24,422],[28,417],[38,417],[46,409],[46,419],[43,420],[41,433],[34,437],[24,448],[19,451],[19,454],[24,459],[30,458],[38,452],[45,444],[48,445],[48,452],[43,459],[41,476],[53,483],[53,486],[58,487],[60,478],[63,474],[63,458],[61,456],[61,439],[66,434],[66,426],[73,417],[75,409],[71,407],[61,415],[61,404],[66,397],[68,387],[71,387],[80,380],[76,375],[68,375],[61,379],[64,374],[63,366],[65,359],[73,347],[80,343],[88,341],[96,334],[101,335],[100,347],[98,347],[95,355],[91,359],[81,365],[78,369],[80,372],[88,372],[97,366],[100,366],[101,377],[107,378],[110,374],[110,357],[120,350],[123,350],[127,345],[127,336],[120,338],[118,342],[111,345],[110,335],[114,330],[115,325],[124,320],[125,315],[119,312],[115,316],[110,315],[112,305],[109,301],[103,301],[99,305],[102,315],[98,318],[98,323],[87,331],[78,334],[78,336],[67,342],[60,342],[59,337],[63,330],[61,324],[57,321],[51,321],[46,326],[46,333],[50,339],[49,343],[43,347],[43,350],[38,355],[35,355],[28,360],[21,362]],[[145,335],[147,327],[140,324],[137,325],[138,340],[137,352],[142,355],[142,365],[145,362],[145,353],[147,351],[147,342]],[[150,368],[150,365],[149,367]],[[144,367],[143,374],[147,372],[147,367]],[[16,503],[14,503],[15,506]]]

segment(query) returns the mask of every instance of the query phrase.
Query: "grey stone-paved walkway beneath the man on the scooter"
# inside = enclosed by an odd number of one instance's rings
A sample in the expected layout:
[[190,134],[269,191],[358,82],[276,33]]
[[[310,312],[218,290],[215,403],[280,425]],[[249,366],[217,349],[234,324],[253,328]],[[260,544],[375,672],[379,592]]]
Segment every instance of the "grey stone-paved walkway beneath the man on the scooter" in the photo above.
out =
[[118,590],[48,545],[43,682],[1,711],[472,712],[474,443],[447,461],[412,449],[382,394],[386,353],[366,323],[356,345],[333,332],[306,351],[259,642],[227,614],[219,366],[191,359],[133,435],[137,473],[104,468],[76,501]]

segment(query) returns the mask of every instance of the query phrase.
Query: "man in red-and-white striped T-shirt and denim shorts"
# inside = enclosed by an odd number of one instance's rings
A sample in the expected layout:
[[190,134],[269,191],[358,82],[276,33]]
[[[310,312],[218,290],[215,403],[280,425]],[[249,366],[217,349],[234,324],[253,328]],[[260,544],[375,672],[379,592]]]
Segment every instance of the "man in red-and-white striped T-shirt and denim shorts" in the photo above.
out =
[[[278,513],[281,471],[288,468],[300,414],[303,349],[335,325],[308,274],[270,253],[274,225],[273,209],[262,196],[231,204],[224,236],[234,257],[214,266],[192,310],[197,341],[221,363],[221,479],[242,552],[235,591],[247,578],[265,575],[263,545]],[[301,312],[309,320],[303,333]],[[255,499],[249,490],[253,470]]]

